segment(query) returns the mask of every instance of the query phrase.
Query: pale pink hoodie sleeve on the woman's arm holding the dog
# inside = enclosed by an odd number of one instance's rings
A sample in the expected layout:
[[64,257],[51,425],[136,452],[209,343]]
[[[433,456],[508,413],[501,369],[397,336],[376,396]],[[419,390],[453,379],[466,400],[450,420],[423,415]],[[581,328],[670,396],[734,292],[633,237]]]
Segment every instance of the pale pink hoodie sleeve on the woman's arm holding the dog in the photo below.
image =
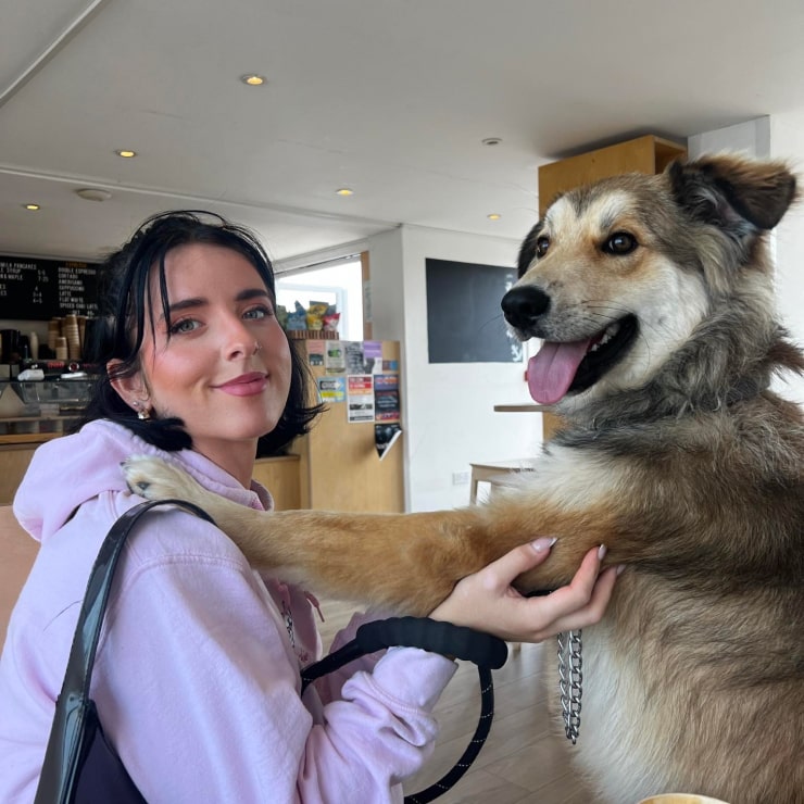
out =
[[313,716],[264,587],[244,562],[166,555],[126,573],[96,665],[106,732],[150,804],[401,801],[432,751],[455,671],[392,650]]

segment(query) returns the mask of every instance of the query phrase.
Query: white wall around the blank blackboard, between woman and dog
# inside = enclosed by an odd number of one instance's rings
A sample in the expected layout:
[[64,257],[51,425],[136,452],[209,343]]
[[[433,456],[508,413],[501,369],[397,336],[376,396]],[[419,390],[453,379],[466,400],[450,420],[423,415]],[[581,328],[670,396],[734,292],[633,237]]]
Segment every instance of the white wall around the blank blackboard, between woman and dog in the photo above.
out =
[[369,239],[374,335],[403,347],[409,511],[465,505],[469,489],[453,485],[454,473],[467,473],[473,461],[524,458],[539,449],[541,414],[493,411],[531,401],[524,363],[430,364],[427,354],[425,260],[513,266],[518,248],[514,240],[416,226]]

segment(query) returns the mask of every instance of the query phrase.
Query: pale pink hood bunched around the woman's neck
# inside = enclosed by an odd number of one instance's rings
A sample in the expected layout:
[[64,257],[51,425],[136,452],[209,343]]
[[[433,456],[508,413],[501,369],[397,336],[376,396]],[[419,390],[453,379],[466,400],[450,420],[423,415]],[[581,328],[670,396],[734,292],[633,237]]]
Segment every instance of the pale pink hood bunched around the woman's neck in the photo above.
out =
[[200,453],[164,452],[122,425],[98,420],[37,449],[14,497],[14,515],[37,541],[47,539],[88,500],[102,492],[130,493],[120,465],[131,455],[161,457],[180,466],[210,491],[257,511],[273,508],[271,494],[262,486],[252,483],[244,489]]

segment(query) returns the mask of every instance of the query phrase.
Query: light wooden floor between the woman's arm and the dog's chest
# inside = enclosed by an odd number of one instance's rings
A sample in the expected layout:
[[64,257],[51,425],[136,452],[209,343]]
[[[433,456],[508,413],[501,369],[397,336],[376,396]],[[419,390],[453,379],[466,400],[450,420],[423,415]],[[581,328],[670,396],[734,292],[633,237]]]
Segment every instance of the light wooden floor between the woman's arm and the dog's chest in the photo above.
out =
[[[328,645],[351,612],[351,604],[323,601],[321,624]],[[594,804],[569,765],[571,744],[555,730],[539,681],[541,663],[552,662],[555,643],[523,645],[510,651],[505,666],[493,674],[494,720],[486,745],[472,768],[440,804]],[[555,692],[557,695],[557,691]],[[441,727],[435,756],[405,784],[406,793],[425,789],[447,772],[469,743],[480,712],[480,690],[474,665],[461,663],[436,707]]]

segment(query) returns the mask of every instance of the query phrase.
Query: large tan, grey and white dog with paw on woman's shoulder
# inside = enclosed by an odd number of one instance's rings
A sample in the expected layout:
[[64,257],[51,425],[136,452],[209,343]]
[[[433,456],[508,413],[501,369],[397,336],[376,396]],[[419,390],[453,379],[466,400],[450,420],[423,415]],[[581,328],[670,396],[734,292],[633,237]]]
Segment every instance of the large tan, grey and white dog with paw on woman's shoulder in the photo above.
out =
[[566,427],[487,505],[261,514],[150,460],[129,485],[197,502],[254,565],[400,613],[531,536],[560,539],[526,592],[606,544],[628,567],[585,632],[577,749],[602,800],[804,802],[804,417],[769,390],[804,357],[766,243],[794,196],[784,165],[721,155],[552,203],[503,310],[544,340],[529,385]]

